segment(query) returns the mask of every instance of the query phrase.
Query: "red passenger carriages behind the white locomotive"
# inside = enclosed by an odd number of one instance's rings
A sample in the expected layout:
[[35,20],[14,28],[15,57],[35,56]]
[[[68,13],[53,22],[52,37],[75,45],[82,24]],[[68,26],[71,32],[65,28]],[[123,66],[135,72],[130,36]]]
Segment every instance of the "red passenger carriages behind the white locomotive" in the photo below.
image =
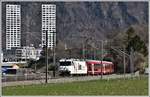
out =
[[97,61],[88,60],[87,64],[87,74],[99,75],[99,74],[111,74],[114,72],[114,64],[108,61]]

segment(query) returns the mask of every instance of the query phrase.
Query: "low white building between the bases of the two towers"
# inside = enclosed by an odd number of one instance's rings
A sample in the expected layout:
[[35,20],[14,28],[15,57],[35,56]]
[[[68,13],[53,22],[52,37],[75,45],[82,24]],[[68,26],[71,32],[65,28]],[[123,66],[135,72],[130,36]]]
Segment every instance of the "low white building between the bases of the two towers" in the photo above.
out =
[[20,60],[38,60],[41,56],[41,51],[42,49],[35,49],[34,47],[22,47],[20,49],[16,49],[16,57]]

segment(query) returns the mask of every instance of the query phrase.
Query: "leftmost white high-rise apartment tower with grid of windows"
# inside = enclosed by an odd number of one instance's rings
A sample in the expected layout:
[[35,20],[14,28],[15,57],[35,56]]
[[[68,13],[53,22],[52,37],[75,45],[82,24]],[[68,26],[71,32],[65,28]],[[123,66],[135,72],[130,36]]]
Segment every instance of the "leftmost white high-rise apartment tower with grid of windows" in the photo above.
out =
[[6,4],[6,49],[21,46],[21,6]]

